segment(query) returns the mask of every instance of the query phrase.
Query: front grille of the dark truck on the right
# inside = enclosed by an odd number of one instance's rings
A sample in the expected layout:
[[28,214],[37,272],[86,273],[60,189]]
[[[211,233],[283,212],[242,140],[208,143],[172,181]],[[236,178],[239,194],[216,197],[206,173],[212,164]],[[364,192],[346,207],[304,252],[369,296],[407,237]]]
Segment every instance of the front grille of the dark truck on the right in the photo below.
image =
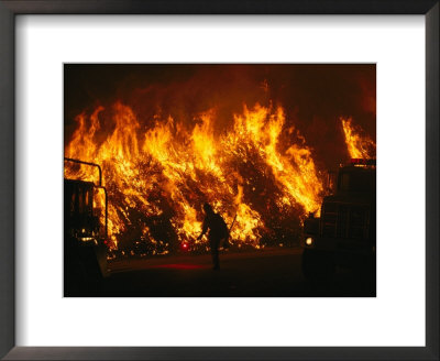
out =
[[367,238],[366,207],[326,204],[322,212],[321,236],[339,239]]

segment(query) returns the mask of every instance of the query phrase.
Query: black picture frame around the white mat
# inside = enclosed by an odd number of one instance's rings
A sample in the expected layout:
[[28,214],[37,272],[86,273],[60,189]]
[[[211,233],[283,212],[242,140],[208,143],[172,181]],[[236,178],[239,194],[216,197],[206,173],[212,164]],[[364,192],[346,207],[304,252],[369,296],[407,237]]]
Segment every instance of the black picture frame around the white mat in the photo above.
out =
[[[439,360],[438,0],[0,0],[0,357],[6,360]],[[19,14],[422,14],[426,19],[426,347],[15,347],[14,23]],[[405,317],[405,316],[403,316]]]

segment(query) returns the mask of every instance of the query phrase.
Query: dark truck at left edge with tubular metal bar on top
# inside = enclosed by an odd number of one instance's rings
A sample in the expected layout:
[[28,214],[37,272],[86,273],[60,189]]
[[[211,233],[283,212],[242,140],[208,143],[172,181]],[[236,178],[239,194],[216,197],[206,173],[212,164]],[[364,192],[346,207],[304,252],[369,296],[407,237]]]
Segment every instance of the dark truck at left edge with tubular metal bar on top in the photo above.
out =
[[[65,296],[94,293],[100,287],[107,270],[108,201],[98,164],[74,158],[65,162],[97,167],[99,183],[64,178],[64,293]],[[97,195],[105,196],[105,223]]]

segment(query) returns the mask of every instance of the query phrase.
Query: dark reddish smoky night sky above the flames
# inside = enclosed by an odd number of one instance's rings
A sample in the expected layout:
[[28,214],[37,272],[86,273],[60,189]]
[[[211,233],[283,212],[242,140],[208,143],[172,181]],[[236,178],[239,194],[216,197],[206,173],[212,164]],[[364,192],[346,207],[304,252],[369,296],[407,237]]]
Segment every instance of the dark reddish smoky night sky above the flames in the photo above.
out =
[[287,122],[300,130],[327,168],[348,156],[339,117],[352,117],[376,140],[376,67],[371,64],[68,64],[64,75],[66,144],[78,113],[98,105],[110,109],[117,100],[130,106],[146,128],[154,114],[188,123],[216,108],[218,132],[230,124],[232,113],[242,112],[243,102],[252,108],[272,100],[283,106]]

